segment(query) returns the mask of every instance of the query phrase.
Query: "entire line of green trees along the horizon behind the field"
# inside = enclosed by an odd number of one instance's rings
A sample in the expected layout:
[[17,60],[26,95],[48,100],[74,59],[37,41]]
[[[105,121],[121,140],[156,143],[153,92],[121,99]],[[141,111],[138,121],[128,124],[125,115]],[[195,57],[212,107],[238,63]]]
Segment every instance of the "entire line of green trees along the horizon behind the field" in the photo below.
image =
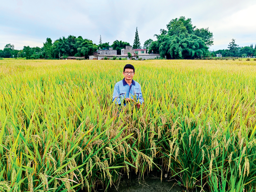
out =
[[[160,34],[155,34],[156,41],[148,39],[144,42],[143,47],[140,45],[140,38],[136,28],[134,38],[134,49],[148,49],[148,53],[160,54],[162,58],[167,59],[194,59],[202,57],[214,57],[216,54],[222,54],[223,57],[242,57],[256,56],[256,45],[253,49],[253,44],[246,47],[239,47],[232,39],[227,49],[210,52],[209,47],[213,45],[213,34],[209,28],[198,29],[192,25],[192,20],[185,17],[172,19],[166,29],[160,29]],[[6,44],[3,50],[0,49],[0,58],[60,58],[68,56],[88,58],[97,49],[108,49],[113,47],[117,50],[117,54],[121,54],[121,49],[130,46],[125,41],[114,41],[102,43],[100,36],[99,44],[93,41],[69,35],[67,38],[62,37],[54,42],[51,38],[47,38],[43,47],[24,46],[23,49],[17,50],[14,45]]]

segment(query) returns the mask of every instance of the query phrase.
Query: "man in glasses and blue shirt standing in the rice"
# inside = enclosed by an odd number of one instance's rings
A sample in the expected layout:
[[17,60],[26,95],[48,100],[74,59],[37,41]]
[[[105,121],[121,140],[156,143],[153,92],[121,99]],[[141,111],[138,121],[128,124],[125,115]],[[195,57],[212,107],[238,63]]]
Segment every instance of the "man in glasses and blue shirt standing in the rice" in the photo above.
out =
[[140,84],[133,80],[135,75],[134,66],[126,64],[123,70],[123,76],[125,77],[122,81],[115,84],[113,93],[113,102],[118,105],[126,105],[128,102],[134,102],[137,108],[144,102]]

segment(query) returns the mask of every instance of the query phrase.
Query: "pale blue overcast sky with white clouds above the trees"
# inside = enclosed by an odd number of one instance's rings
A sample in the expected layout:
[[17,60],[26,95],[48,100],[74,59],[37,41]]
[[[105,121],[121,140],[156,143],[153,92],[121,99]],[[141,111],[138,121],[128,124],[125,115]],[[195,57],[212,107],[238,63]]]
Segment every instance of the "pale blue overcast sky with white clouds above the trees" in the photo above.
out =
[[99,44],[115,40],[140,43],[166,29],[170,20],[184,16],[197,28],[213,32],[211,50],[226,49],[232,38],[244,47],[256,44],[256,0],[0,0],[0,49],[42,47],[68,35]]

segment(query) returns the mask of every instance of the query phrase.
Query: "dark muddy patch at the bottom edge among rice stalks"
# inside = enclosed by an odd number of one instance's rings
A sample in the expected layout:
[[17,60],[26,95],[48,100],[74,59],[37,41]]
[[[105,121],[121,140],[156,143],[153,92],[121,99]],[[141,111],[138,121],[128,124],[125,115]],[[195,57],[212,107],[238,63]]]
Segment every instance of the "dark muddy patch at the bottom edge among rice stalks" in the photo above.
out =
[[112,186],[107,192],[185,192],[186,190],[177,185],[177,181],[169,180],[164,177],[161,182],[161,173],[152,172],[139,178],[139,175],[127,175]]

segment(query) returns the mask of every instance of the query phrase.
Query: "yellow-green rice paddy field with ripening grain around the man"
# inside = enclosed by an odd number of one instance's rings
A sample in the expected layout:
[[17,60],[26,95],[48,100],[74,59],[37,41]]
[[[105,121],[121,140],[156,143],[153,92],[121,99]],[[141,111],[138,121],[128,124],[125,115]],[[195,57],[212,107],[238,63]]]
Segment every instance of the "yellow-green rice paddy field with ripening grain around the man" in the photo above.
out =
[[[112,103],[135,67],[144,103]],[[256,61],[0,60],[0,191],[93,192],[151,171],[256,191]]]

